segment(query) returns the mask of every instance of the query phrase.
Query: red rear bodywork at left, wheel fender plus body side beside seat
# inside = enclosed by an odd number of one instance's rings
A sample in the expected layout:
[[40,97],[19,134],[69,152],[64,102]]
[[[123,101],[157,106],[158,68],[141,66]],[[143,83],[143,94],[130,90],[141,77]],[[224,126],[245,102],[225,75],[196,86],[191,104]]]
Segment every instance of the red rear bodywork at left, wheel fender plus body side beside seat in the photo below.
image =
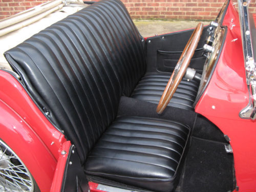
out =
[[49,191],[58,149],[66,139],[37,108],[21,84],[1,70],[0,98],[1,138],[26,164],[40,190]]

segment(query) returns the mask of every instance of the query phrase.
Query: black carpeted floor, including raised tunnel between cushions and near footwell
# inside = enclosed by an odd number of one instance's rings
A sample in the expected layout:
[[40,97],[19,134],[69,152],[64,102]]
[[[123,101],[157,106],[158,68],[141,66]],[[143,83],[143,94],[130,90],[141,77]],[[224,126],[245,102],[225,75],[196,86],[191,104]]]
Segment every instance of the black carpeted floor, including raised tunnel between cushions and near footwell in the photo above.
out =
[[155,110],[155,103],[122,97],[118,116],[146,114],[152,118],[181,121],[193,127],[175,192],[232,191],[236,187],[233,155],[226,152],[228,142],[219,128],[192,110],[168,106],[161,115]]

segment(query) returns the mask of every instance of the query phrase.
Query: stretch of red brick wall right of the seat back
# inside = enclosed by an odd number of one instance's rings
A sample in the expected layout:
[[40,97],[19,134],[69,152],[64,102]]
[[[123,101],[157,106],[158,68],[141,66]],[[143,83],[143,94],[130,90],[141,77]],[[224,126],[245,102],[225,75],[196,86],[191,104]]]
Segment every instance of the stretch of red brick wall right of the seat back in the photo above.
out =
[[[132,18],[214,19],[225,0],[121,0]],[[236,2],[236,0],[234,0]],[[256,0],[250,11],[256,13]]]

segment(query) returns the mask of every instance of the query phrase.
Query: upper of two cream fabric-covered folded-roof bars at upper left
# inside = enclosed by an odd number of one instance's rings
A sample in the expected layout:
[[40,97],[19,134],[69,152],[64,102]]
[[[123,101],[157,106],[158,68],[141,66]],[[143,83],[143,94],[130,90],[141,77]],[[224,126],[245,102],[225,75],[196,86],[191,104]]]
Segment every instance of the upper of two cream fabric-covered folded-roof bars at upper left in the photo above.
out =
[[46,12],[58,5],[62,4],[62,0],[54,0],[51,2],[47,2],[45,4],[36,6],[34,8],[31,8],[27,11],[18,13],[16,15],[13,15],[11,17],[8,17],[6,19],[3,19],[0,21],[0,29],[7,28],[11,25],[17,24],[19,22],[22,22],[28,18],[31,18],[33,16],[36,16],[38,14],[41,14],[43,12]]

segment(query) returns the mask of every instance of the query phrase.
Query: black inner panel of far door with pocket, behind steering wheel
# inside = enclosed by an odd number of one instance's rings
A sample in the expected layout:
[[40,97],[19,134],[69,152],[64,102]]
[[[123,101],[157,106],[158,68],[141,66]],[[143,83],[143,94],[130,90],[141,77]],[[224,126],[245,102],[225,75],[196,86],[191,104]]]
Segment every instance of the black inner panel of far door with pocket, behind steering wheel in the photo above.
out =
[[[205,57],[202,56],[202,47],[208,36],[208,26],[204,27],[197,50],[190,62],[190,68],[202,73]],[[185,48],[190,35],[194,29],[168,33],[164,35],[149,37],[146,39],[146,62],[147,72],[172,73],[180,55]]]

